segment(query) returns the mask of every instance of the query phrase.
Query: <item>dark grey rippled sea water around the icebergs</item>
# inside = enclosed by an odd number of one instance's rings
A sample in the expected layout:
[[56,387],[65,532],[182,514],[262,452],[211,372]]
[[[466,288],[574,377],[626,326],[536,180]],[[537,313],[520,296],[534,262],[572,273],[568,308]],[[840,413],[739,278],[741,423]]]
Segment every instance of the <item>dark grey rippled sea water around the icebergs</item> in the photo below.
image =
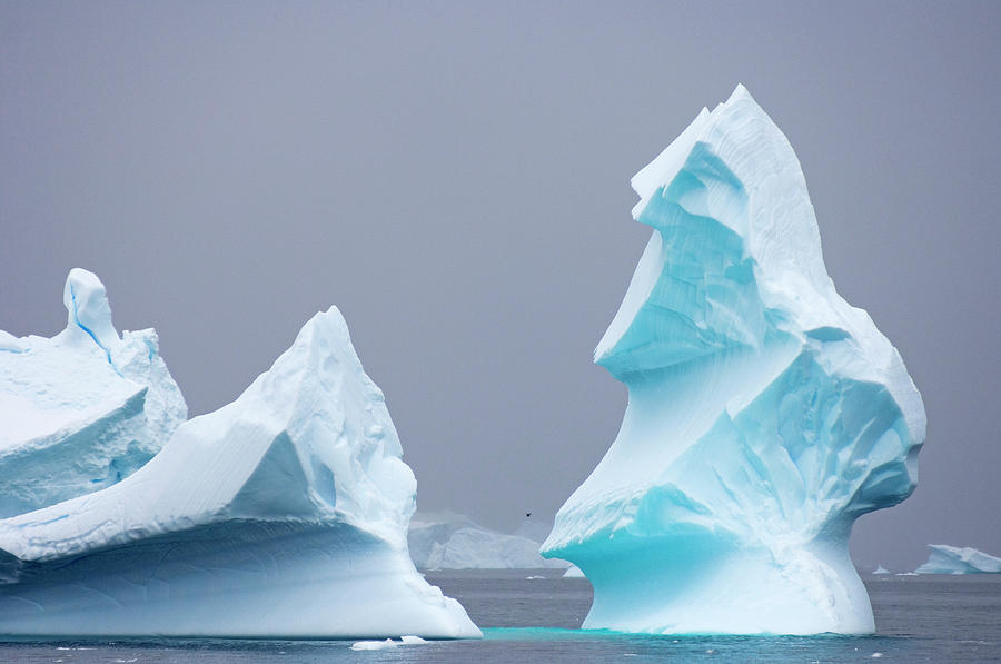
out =
[[0,662],[1001,662],[1001,575],[866,577],[875,635],[762,637],[582,632],[576,627],[591,606],[591,585],[559,574],[428,573],[428,581],[463,603],[483,641],[363,652],[349,641],[0,643]]

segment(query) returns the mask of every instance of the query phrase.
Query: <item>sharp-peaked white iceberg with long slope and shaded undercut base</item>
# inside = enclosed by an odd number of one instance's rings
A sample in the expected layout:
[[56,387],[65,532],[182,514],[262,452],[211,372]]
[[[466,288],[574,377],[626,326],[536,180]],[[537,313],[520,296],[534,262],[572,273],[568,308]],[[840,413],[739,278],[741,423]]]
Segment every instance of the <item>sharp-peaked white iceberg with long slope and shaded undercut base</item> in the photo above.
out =
[[331,307],[129,477],[0,521],[0,633],[478,637],[410,562],[415,490]]

